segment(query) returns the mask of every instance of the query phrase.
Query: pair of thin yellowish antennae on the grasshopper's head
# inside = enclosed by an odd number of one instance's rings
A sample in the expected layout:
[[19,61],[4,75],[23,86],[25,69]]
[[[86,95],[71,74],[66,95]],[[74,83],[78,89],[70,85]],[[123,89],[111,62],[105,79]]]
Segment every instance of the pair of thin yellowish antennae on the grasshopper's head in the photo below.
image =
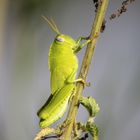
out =
[[51,18],[50,20],[47,18],[47,17],[45,17],[45,16],[41,16],[45,21],[47,21],[47,23],[50,25],[50,27],[52,28],[52,30],[54,31],[54,32],[56,32],[57,34],[60,34],[60,31],[58,30],[58,27],[56,26],[56,24],[55,24],[55,22],[54,22],[54,20]]

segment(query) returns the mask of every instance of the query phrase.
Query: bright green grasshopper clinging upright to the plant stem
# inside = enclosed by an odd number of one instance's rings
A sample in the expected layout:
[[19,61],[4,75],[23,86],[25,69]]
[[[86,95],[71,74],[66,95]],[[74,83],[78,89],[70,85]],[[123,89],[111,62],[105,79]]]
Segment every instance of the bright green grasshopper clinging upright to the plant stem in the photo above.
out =
[[43,18],[50,27],[57,33],[49,51],[49,69],[51,72],[51,95],[43,107],[38,111],[40,127],[44,128],[60,119],[68,105],[70,97],[75,88],[78,70],[78,59],[76,53],[79,52],[90,40],[81,44],[85,37],[80,37],[75,41],[72,37],[60,33],[54,21]]

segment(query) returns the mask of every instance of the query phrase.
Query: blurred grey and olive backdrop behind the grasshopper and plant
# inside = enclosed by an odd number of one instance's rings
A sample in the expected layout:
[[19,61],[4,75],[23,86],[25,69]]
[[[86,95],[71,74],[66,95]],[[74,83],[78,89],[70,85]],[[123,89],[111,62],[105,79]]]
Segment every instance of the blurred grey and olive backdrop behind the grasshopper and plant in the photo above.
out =
[[[140,1],[109,21],[121,2],[110,1],[84,90],[100,105],[100,140],[140,139]],[[0,140],[31,140],[39,131],[36,112],[50,94],[48,50],[56,35],[41,15],[77,39],[89,35],[94,10],[92,0],[1,0]],[[78,120],[87,117],[80,108]]]

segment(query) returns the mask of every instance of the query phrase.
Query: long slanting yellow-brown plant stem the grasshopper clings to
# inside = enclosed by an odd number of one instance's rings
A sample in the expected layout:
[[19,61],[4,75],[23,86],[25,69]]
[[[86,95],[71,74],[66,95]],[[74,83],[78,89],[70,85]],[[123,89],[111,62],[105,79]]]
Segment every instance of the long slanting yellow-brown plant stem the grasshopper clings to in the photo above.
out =
[[[97,42],[97,39],[99,37],[100,34],[100,29],[102,26],[102,22],[105,16],[105,12],[108,6],[108,2],[109,0],[102,0],[99,3],[99,7],[95,16],[95,19],[93,21],[93,26],[92,26],[92,30],[91,30],[91,34],[90,34],[90,40],[91,42],[87,45],[87,49],[85,52],[85,56],[83,58],[83,62],[82,62],[82,66],[80,69],[80,73],[79,73],[79,78],[82,78],[86,81],[86,77],[88,74],[88,70],[89,70],[89,66],[92,60],[92,56],[95,50],[95,45]],[[77,111],[78,111],[78,100],[79,97],[81,96],[82,92],[83,92],[83,84],[78,82],[76,84],[76,94],[72,100],[69,112],[68,112],[68,116],[67,116],[67,120],[70,120],[70,124],[64,129],[64,133],[62,135],[62,138],[65,140],[70,140],[71,139],[71,133],[73,130],[73,124],[75,122],[75,118],[77,115]],[[97,139],[96,139],[97,140]]]

